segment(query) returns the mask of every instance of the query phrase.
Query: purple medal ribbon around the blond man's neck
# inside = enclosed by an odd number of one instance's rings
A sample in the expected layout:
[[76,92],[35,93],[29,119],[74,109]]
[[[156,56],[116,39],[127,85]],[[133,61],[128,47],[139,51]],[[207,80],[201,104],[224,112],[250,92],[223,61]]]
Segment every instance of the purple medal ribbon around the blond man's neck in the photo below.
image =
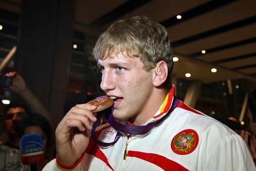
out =
[[133,135],[144,135],[146,133],[148,133],[155,125],[159,124],[160,122],[163,121],[163,119],[166,118],[166,116],[168,116],[179,104],[180,100],[177,99],[174,96],[174,100],[173,100],[173,104],[171,109],[166,113],[165,116],[163,116],[161,119],[155,121],[155,122],[151,122],[148,125],[140,125],[140,126],[136,126],[136,125],[124,125],[121,124],[119,122],[116,122],[116,120],[113,118],[112,112],[110,113],[109,117],[108,117],[108,123],[115,129],[118,130],[115,140],[113,142],[102,142],[99,139],[97,139],[96,135],[95,135],[95,130],[97,125],[99,124],[100,120],[102,119],[104,113],[103,112],[98,112],[97,113],[97,121],[93,123],[93,130],[91,131],[91,137],[93,139],[93,141],[97,144],[100,145],[102,147],[108,147],[113,145],[114,143],[117,142],[117,140],[120,138],[121,136],[121,132],[122,133],[128,133],[128,134],[133,134]]

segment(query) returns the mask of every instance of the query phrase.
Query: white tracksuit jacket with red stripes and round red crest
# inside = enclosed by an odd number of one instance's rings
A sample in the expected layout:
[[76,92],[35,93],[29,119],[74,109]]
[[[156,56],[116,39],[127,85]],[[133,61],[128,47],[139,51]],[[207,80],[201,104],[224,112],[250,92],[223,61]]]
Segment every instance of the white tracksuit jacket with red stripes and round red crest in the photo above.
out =
[[[167,113],[173,96],[174,88],[145,125]],[[117,133],[108,123],[97,130],[96,135],[103,142],[113,142]],[[110,147],[98,146],[90,139],[81,165],[84,171],[256,171],[247,146],[238,134],[182,101],[145,135],[123,134]],[[54,159],[43,171],[61,170],[65,168]],[[72,170],[82,169],[79,164]]]

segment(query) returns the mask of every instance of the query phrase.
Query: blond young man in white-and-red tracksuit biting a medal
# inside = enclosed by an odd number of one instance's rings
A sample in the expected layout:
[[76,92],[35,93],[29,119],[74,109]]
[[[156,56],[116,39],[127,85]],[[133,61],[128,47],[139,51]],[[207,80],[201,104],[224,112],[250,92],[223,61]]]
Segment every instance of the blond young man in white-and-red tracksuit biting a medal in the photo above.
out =
[[93,54],[100,86],[115,101],[109,123],[95,139],[97,107],[73,107],[56,129],[57,159],[45,171],[256,170],[238,134],[174,96],[170,44],[147,17],[118,21],[100,36]]

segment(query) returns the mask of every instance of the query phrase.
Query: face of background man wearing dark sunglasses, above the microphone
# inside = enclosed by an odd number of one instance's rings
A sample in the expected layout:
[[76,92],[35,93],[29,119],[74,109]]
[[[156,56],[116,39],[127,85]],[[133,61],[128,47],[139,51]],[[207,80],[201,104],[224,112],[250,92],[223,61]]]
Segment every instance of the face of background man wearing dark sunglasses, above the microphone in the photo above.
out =
[[23,107],[10,108],[6,112],[5,128],[8,134],[15,134],[15,125],[18,121],[22,121],[26,116]]

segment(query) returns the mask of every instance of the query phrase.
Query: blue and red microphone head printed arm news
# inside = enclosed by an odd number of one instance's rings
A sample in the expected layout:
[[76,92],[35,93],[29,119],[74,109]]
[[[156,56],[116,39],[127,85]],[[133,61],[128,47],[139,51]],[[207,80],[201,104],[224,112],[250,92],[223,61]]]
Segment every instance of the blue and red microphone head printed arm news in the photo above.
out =
[[29,134],[20,139],[20,158],[23,165],[34,165],[44,161],[44,143],[41,135]]

